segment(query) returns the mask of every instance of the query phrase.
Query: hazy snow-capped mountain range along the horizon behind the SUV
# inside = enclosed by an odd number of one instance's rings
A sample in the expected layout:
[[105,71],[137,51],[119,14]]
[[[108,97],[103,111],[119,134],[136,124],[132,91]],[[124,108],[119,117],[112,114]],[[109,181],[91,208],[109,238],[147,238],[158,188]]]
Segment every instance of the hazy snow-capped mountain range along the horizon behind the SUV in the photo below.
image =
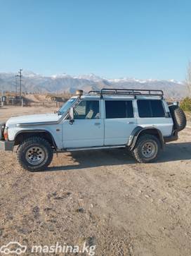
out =
[[[16,73],[0,73],[0,90],[15,91]],[[88,92],[107,88],[137,88],[163,90],[167,98],[181,99],[187,95],[187,87],[183,82],[176,80],[139,80],[136,78],[108,79],[98,75],[67,75],[65,73],[44,76],[31,71],[22,73],[22,92],[48,93],[70,92],[77,89]]]

